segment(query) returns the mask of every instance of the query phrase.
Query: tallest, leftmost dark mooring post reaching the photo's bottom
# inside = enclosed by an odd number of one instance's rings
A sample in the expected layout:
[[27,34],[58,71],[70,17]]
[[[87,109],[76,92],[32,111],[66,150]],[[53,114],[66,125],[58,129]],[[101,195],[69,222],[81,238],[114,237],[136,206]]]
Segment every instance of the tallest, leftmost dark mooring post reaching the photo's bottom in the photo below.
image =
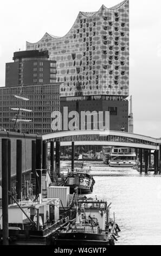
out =
[[2,139],[2,237],[3,245],[9,245],[8,228],[8,139]]

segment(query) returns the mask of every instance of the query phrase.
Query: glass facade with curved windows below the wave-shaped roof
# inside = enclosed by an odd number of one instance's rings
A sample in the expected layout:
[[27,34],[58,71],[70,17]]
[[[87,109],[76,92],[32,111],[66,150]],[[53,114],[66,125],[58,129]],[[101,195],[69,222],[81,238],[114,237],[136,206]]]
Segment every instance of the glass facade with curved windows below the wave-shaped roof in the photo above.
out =
[[80,12],[65,36],[46,33],[36,43],[27,42],[27,50],[37,47],[56,60],[61,96],[129,95],[128,0],[112,8],[102,5],[94,13]]

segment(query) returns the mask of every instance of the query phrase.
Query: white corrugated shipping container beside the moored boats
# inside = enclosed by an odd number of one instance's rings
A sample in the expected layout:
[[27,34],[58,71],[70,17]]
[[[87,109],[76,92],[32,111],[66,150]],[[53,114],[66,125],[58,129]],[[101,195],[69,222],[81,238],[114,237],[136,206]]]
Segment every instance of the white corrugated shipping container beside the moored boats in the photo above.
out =
[[[64,207],[68,206],[70,187],[50,186],[47,189],[48,198],[59,198]],[[60,203],[60,207],[61,207]]]

